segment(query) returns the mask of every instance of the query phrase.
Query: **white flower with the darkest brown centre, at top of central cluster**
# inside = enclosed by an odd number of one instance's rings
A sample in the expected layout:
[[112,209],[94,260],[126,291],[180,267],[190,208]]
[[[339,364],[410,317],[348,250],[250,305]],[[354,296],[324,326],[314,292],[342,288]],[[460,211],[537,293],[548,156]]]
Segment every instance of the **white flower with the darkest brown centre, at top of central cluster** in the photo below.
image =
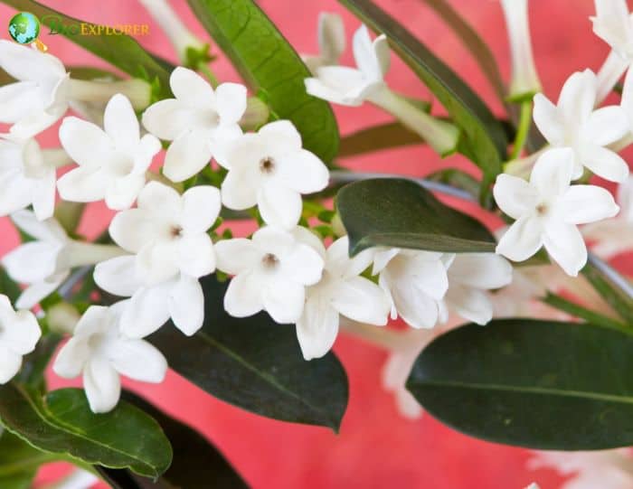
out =
[[301,147],[288,120],[271,122],[222,146],[218,163],[229,170],[222,182],[222,203],[244,210],[258,205],[268,224],[294,228],[301,215],[301,193],[326,188],[326,165]]

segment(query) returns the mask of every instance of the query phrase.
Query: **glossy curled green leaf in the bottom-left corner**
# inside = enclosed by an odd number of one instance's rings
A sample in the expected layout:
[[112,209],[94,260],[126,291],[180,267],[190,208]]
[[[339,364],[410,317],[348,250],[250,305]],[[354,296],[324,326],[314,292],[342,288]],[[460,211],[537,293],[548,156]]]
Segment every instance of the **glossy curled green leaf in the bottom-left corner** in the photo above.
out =
[[93,414],[82,390],[53,390],[45,396],[23,385],[0,387],[0,422],[33,447],[71,456],[91,465],[128,467],[157,477],[172,449],[156,421],[120,402],[106,414]]

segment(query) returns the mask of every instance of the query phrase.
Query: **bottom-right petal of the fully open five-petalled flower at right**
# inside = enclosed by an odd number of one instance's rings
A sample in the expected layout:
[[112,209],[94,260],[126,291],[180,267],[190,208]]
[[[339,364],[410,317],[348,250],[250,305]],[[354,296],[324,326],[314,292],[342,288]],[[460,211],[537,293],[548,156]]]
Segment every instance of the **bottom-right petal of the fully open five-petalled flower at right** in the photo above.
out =
[[573,224],[551,221],[545,228],[543,246],[567,275],[576,277],[587,263],[587,247]]

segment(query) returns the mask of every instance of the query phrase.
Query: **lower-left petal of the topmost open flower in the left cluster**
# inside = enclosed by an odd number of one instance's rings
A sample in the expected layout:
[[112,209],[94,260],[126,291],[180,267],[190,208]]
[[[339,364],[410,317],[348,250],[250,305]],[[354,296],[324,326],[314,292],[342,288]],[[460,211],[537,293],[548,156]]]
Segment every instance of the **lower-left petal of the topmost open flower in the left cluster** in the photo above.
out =
[[163,173],[172,182],[182,182],[209,165],[210,160],[209,133],[203,129],[186,131],[167,149]]

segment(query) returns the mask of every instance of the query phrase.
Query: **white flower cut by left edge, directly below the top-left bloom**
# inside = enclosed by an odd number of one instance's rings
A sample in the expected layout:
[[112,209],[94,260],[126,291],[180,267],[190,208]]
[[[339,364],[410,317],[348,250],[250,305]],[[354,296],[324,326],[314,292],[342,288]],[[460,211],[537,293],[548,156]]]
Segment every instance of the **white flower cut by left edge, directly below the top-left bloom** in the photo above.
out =
[[55,165],[35,139],[0,139],[0,215],[33,204],[37,219],[52,217],[56,180]]

